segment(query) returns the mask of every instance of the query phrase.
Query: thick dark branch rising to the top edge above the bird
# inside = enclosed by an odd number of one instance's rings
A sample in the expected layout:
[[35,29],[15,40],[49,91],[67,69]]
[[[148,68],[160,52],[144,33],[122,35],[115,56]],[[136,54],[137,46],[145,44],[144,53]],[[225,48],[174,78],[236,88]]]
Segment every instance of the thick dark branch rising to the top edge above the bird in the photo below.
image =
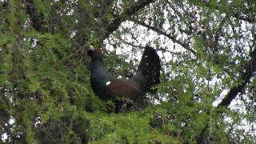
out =
[[102,37],[102,40],[106,39],[110,34],[117,30],[118,26],[120,26],[122,22],[126,21],[127,18],[129,18],[133,14],[136,14],[138,10],[141,10],[143,7],[149,5],[151,2],[154,2],[154,0],[140,0],[139,2],[135,3],[134,6],[130,6],[129,8],[124,10],[122,14],[114,18],[110,25],[106,27],[106,34]]

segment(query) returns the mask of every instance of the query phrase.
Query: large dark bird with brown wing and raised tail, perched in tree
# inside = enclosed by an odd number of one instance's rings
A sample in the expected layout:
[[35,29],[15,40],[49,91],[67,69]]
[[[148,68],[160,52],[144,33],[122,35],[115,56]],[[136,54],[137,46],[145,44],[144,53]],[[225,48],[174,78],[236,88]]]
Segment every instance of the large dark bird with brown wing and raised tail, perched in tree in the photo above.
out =
[[128,80],[111,78],[107,74],[100,49],[88,50],[87,54],[91,58],[90,84],[99,98],[127,98],[136,102],[142,100],[147,92],[157,92],[153,87],[160,82],[161,66],[159,56],[152,47],[146,46],[136,74]]

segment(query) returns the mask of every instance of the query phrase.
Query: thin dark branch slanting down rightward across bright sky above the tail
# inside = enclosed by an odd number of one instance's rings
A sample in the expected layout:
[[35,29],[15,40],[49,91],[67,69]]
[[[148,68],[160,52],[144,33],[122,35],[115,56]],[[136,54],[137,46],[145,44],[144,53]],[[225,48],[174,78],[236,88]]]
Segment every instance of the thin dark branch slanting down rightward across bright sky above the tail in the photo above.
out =
[[189,50],[191,53],[193,53],[195,55],[197,54],[196,51],[190,49],[190,47],[189,47],[189,45],[187,43],[183,43],[183,42],[178,41],[176,39],[176,36],[172,36],[170,34],[167,34],[165,31],[162,31],[162,30],[160,30],[160,29],[158,29],[158,28],[156,28],[154,26],[147,25],[144,22],[139,22],[136,19],[132,19],[132,21],[138,23],[141,26],[145,26],[146,28],[148,28],[150,30],[154,30],[158,34],[162,34],[162,35],[166,36],[167,38],[170,38],[173,42],[178,43],[180,46],[184,47],[184,49]]

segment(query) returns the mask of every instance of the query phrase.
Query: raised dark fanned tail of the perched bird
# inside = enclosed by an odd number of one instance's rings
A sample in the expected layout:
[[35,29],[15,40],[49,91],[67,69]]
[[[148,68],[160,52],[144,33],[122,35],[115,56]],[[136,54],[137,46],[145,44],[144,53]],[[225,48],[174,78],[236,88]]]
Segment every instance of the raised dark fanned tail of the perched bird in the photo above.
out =
[[160,69],[161,65],[158,54],[152,47],[146,46],[146,49],[142,54],[142,60],[138,66],[138,71],[140,71],[146,79],[144,90],[147,92],[153,94],[157,92],[157,89],[152,89],[152,86],[158,85],[160,82]]

